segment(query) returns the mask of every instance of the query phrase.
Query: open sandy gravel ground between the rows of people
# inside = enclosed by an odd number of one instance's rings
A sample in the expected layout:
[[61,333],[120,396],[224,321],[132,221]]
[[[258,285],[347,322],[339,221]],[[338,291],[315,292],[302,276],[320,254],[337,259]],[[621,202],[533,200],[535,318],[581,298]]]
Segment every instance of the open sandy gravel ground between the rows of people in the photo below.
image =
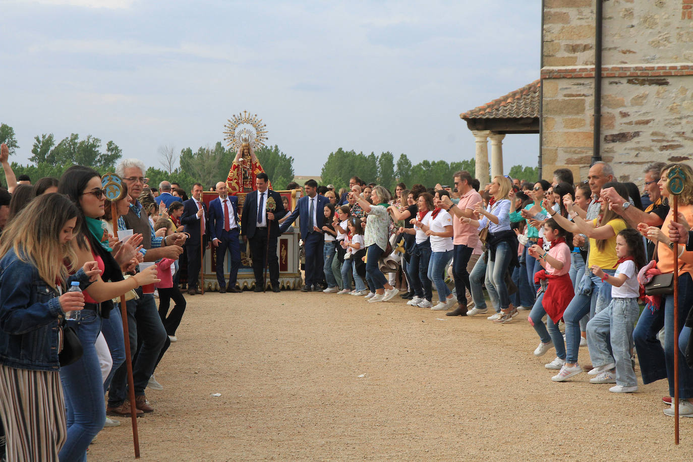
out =
[[[693,419],[675,447],[665,381],[627,395],[587,374],[551,382],[553,350],[532,355],[522,313],[498,326],[395,300],[188,297],[138,420],[141,460],[691,460]],[[134,460],[120,420],[89,460]]]

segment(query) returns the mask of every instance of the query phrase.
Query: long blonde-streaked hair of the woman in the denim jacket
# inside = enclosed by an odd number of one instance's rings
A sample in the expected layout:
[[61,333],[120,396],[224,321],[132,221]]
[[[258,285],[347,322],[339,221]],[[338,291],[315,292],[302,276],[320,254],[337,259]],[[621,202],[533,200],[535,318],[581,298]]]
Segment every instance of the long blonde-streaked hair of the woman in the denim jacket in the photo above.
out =
[[62,194],[44,194],[33,199],[3,230],[0,256],[15,251],[19,260],[36,267],[48,285],[57,288],[76,269],[77,255],[68,242],[60,243],[60,232],[67,220],[80,213],[70,199]]

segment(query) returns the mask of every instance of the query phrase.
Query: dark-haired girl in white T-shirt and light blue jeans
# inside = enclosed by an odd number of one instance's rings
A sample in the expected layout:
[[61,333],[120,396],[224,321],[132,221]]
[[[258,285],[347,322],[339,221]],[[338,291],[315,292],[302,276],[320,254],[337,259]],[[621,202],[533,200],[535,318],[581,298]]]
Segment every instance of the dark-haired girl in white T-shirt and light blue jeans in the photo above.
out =
[[638,271],[644,265],[645,249],[637,230],[628,228],[616,236],[618,267],[613,276],[592,266],[595,276],[611,284],[611,303],[587,323],[587,346],[595,366],[590,375],[593,384],[615,383],[609,391],[633,393],[638,382],[633,371],[633,328],[640,315]]

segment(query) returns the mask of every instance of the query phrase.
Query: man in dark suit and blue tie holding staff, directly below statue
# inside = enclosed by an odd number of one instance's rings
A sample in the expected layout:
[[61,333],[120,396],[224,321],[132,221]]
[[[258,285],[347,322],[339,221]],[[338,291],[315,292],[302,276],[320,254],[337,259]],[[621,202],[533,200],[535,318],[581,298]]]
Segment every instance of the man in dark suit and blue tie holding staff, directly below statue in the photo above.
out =
[[[255,273],[255,292],[263,292],[265,284],[265,251],[267,252],[267,266],[270,267],[270,281],[272,292],[279,292],[279,258],[277,257],[277,238],[279,224],[277,220],[286,215],[286,210],[281,202],[281,195],[270,190],[270,179],[265,172],[258,173],[255,186],[257,190],[245,195],[243,203],[243,215],[240,217],[240,234],[243,241],[249,240],[250,252],[253,258],[253,272]],[[274,212],[267,210],[267,199],[274,199]],[[267,226],[270,236],[267,238]]]

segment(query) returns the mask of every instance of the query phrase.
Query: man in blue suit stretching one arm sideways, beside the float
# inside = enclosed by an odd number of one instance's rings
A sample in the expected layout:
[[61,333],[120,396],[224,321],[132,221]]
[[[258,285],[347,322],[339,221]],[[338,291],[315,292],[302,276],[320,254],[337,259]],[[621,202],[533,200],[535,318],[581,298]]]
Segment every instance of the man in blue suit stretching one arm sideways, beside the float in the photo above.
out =
[[322,223],[325,220],[324,208],[330,203],[330,199],[317,194],[317,181],[309,179],[305,184],[306,195],[301,197],[296,204],[296,208],[284,220],[279,229],[281,232],[295,222],[296,218],[301,217],[301,239],[304,241],[306,251],[306,285],[301,289],[303,292],[312,290],[322,290],[323,249],[325,245],[325,235],[322,233]]

